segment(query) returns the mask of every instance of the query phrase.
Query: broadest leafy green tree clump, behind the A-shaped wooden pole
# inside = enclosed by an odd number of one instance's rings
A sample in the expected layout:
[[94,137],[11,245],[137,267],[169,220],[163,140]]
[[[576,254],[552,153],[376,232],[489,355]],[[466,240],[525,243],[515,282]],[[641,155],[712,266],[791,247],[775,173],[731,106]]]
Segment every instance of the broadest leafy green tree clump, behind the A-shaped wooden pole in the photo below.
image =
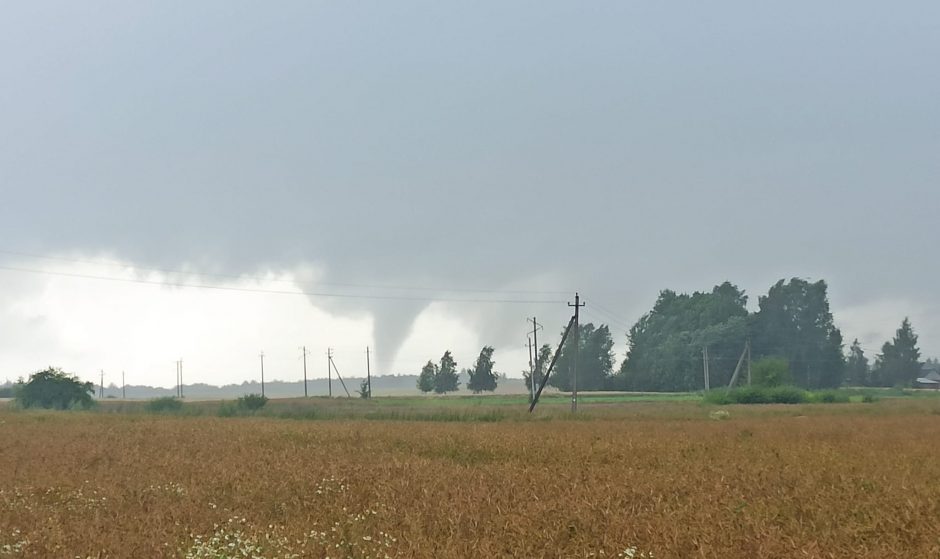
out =
[[619,385],[626,390],[700,390],[706,345],[712,386],[727,384],[747,337],[746,304],[744,291],[729,282],[710,293],[661,292],[653,310],[628,333]]

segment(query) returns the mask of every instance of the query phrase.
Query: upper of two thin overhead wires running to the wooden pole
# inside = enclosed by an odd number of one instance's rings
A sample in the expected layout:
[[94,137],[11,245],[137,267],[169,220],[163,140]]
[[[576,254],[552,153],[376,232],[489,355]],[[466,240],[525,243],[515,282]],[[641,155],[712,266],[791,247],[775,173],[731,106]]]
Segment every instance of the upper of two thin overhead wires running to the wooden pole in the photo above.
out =
[[[297,280],[268,278],[265,276],[223,274],[223,273],[217,273],[217,272],[196,272],[192,270],[176,270],[176,269],[171,269],[171,268],[144,268],[144,267],[135,266],[131,264],[96,262],[94,260],[82,260],[79,258],[65,258],[61,256],[45,256],[41,254],[32,254],[28,252],[19,252],[19,251],[14,251],[14,250],[5,250],[5,249],[0,249],[0,254],[23,256],[26,258],[39,258],[43,260],[53,260],[53,261],[58,261],[58,262],[70,262],[73,264],[89,264],[93,266],[111,266],[111,267],[119,267],[119,268],[130,268],[130,269],[141,271],[141,272],[157,272],[161,274],[175,274],[175,275],[185,275],[185,276],[267,281],[267,282],[272,282],[272,283],[289,283],[292,285],[295,285],[298,283]],[[526,290],[523,290],[523,289],[484,289],[484,288],[472,288],[472,287],[380,285],[380,284],[367,284],[367,283],[344,283],[344,282],[321,282],[321,281],[314,282],[314,283],[315,285],[324,286],[324,287],[351,287],[351,288],[359,288],[359,289],[391,289],[391,290],[398,290],[398,291],[433,291],[433,292],[444,292],[444,293],[494,293],[494,294],[507,294],[507,295],[561,295],[561,294],[568,293],[568,291],[532,291],[532,290],[527,290],[527,289]]]

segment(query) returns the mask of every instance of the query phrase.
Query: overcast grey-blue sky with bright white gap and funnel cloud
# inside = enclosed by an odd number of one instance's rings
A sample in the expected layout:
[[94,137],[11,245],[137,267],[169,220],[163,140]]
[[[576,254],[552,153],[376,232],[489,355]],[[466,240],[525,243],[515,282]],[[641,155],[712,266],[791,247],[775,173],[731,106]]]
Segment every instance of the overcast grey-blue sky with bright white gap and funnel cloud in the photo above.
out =
[[560,304],[0,270],[0,380],[185,351],[240,381],[301,344],[518,375],[575,289],[622,354],[662,288],[793,276],[849,340],[910,315],[938,355],[938,59],[933,1],[6,3],[0,250],[72,261],[0,265]]

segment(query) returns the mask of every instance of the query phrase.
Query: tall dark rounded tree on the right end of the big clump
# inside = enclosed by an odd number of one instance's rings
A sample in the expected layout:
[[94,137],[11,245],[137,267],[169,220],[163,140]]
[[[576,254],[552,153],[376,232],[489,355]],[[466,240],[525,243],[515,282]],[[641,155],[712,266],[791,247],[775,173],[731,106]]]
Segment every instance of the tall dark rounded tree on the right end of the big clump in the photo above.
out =
[[780,280],[760,298],[751,321],[753,354],[785,358],[804,388],[839,386],[845,372],[842,332],[829,312],[827,289],[822,280]]

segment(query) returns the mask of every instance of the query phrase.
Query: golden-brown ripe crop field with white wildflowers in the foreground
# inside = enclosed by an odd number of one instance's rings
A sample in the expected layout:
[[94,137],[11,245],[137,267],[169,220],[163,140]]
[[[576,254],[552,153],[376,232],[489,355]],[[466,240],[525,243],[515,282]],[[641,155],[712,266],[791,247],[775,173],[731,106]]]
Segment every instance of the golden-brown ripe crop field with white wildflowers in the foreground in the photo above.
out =
[[936,401],[725,409],[0,411],[0,557],[940,557]]

